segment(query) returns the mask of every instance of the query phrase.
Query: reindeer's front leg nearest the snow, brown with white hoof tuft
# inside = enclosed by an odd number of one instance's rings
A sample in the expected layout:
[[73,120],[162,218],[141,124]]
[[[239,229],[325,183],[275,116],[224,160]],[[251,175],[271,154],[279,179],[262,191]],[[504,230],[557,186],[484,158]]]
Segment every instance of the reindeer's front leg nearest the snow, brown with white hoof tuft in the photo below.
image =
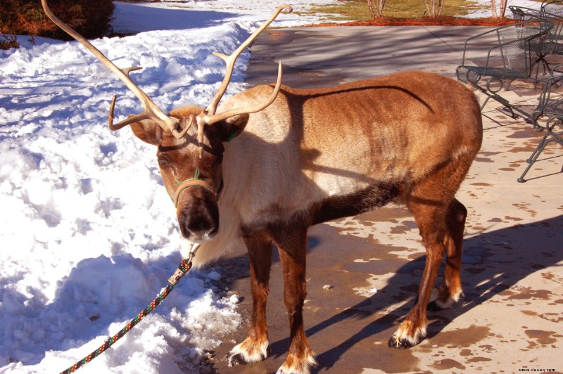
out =
[[245,238],[251,269],[252,321],[241,344],[229,352],[229,366],[258,362],[270,354],[266,322],[266,300],[270,290],[270,268],[272,266],[272,240],[255,235]]

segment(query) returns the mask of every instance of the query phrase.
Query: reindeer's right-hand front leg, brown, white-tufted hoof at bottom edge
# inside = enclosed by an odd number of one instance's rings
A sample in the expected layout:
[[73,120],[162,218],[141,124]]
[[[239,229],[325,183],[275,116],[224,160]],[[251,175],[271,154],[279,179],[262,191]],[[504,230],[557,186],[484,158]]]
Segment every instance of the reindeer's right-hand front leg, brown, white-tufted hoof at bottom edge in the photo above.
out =
[[307,230],[286,231],[289,236],[276,240],[279,259],[284,270],[284,302],[289,314],[290,343],[286,361],[277,374],[308,374],[317,365],[303,329],[305,301],[305,256]]

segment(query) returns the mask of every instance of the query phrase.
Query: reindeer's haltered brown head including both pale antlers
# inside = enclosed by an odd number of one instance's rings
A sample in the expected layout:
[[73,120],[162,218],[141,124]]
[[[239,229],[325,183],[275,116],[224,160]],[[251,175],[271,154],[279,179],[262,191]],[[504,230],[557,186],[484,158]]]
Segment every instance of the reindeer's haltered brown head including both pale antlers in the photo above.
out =
[[115,131],[130,125],[135,136],[158,147],[156,155],[160,174],[170,198],[175,203],[182,236],[195,243],[212,238],[219,228],[217,199],[222,189],[223,143],[244,129],[250,113],[259,112],[274,102],[281,86],[281,63],[274,91],[264,103],[234,108],[218,114],[217,105],[227,91],[236,58],[281,11],[286,9],[291,12],[291,6],[279,6],[230,56],[214,53],[225,61],[227,68],[223,82],[207,108],[189,106],[172,110],[168,115],[129,77],[129,72],[139,70],[140,67],[121,70],[82,35],[56,18],[46,0],[42,0],[42,6],[47,16],[58,27],[80,41],[139,98],[144,112],[129,115],[125,120],[114,124],[116,96],[113,96],[108,116],[109,128]]

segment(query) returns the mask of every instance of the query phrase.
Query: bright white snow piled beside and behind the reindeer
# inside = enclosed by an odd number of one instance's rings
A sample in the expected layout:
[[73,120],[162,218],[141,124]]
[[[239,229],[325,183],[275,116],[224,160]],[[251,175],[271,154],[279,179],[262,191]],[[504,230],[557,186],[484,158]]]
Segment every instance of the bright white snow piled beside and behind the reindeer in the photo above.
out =
[[[316,0],[331,3],[336,0]],[[113,27],[137,33],[94,44],[132,72],[157,105],[207,105],[230,53],[281,1],[116,2]],[[307,25],[291,1],[276,26]],[[0,373],[64,370],[137,316],[181,261],[175,209],[156,150],[106,126],[142,108],[76,42],[19,37],[0,51]],[[246,88],[248,52],[227,96]],[[274,77],[272,77],[274,80]],[[241,324],[220,269],[190,271],[137,328],[83,373],[199,373],[207,350]]]

